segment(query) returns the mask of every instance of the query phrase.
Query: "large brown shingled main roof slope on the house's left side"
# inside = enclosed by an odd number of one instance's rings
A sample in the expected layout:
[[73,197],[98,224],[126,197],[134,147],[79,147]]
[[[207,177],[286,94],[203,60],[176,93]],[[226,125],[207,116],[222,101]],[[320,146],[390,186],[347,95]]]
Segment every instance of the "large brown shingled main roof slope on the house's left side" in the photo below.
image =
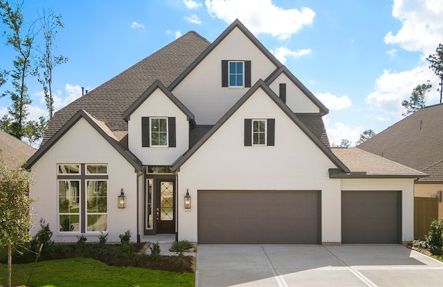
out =
[[103,121],[122,146],[127,145],[127,122],[123,112],[149,88],[155,80],[170,85],[210,45],[194,31],[179,37],[118,76],[55,112],[45,137],[44,146],[78,110],[87,110]]

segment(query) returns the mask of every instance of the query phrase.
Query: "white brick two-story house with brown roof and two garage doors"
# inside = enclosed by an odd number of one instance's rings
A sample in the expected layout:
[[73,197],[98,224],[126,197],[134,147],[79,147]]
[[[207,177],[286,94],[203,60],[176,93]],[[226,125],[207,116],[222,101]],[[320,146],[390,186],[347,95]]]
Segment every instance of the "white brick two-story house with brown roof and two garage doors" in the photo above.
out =
[[424,173],[330,148],[327,112],[240,21],[189,32],[55,113],[33,207],[56,241],[412,241]]

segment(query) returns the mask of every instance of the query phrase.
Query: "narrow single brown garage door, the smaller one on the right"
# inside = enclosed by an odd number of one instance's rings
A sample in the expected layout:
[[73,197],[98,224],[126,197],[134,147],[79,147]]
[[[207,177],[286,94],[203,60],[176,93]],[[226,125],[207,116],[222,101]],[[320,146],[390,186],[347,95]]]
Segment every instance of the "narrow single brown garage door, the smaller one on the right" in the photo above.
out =
[[401,243],[400,191],[342,191],[342,243]]

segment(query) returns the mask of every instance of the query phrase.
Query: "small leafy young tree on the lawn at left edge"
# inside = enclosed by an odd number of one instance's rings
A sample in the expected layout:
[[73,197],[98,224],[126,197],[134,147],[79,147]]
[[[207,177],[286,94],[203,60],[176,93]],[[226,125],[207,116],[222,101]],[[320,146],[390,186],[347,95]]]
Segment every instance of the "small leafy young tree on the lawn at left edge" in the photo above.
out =
[[8,286],[11,286],[12,248],[29,242],[33,225],[28,197],[31,175],[23,168],[0,165],[0,245],[8,247]]

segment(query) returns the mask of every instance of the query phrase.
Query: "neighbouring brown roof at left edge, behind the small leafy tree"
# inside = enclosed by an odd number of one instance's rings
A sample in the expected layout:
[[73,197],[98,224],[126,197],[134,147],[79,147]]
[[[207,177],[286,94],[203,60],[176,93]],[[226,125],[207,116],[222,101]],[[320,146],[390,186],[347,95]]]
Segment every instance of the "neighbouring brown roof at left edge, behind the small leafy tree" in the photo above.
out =
[[37,150],[23,141],[0,130],[0,164],[8,168],[18,168]]

